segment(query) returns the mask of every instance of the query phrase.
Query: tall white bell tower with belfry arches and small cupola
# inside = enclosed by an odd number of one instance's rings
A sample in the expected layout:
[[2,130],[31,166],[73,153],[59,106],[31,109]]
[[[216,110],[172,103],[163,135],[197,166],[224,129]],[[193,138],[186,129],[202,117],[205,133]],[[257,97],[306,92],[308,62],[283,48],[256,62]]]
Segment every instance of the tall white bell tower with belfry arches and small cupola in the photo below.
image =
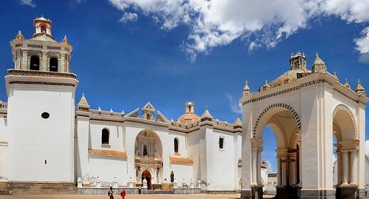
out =
[[14,68],[8,96],[9,181],[74,181],[74,113],[78,80],[71,73],[72,45],[56,41],[52,21],[33,20],[35,33],[10,42]]

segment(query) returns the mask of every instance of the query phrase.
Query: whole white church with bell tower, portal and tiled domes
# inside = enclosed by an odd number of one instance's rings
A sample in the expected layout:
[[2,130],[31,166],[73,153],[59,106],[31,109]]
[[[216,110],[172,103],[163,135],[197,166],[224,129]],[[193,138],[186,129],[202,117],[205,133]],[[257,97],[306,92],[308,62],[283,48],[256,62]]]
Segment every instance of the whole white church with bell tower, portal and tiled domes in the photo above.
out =
[[[83,187],[239,190],[241,121],[222,122],[194,103],[177,121],[148,102],[132,112],[93,109],[71,72],[72,45],[36,18],[30,39],[11,41],[7,102],[0,106],[0,181]],[[78,102],[78,104],[76,104]],[[222,176],[222,180],[219,180]]]

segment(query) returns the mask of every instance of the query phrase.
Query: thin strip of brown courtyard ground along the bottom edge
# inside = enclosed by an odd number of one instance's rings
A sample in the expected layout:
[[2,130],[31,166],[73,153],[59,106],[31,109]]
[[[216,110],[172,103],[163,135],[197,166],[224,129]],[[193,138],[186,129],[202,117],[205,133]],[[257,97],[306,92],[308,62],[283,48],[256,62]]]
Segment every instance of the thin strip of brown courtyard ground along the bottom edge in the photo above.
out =
[[[108,195],[0,195],[1,199],[100,199],[109,198]],[[119,195],[114,196],[119,199]],[[126,199],[202,199],[202,198],[224,198],[224,199],[238,199],[239,194],[145,194],[145,195],[127,195]],[[265,198],[271,198],[266,195]]]

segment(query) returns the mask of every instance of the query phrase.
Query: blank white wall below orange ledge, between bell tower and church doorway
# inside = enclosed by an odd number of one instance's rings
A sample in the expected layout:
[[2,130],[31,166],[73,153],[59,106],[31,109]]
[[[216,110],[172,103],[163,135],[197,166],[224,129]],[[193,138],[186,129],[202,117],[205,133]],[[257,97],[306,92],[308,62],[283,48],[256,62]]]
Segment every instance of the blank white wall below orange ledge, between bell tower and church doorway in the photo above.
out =
[[106,156],[89,156],[90,177],[100,177],[103,182],[113,183],[114,177],[118,183],[127,185],[129,175],[127,173],[127,161],[125,158]]

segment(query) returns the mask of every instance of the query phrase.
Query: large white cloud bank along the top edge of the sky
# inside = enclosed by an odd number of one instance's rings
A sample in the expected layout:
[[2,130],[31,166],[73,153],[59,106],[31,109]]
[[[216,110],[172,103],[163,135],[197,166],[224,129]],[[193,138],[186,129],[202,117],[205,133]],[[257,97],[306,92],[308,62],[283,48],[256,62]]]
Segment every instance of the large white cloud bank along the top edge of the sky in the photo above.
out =
[[[365,0],[109,1],[125,13],[130,9],[151,16],[165,30],[188,26],[190,33],[182,48],[192,60],[198,53],[206,54],[212,48],[228,45],[237,38],[241,38],[249,50],[274,48],[279,41],[306,28],[314,17],[333,15],[348,23],[369,21],[369,1]],[[363,42],[363,38],[355,39],[356,49],[362,54]]]

